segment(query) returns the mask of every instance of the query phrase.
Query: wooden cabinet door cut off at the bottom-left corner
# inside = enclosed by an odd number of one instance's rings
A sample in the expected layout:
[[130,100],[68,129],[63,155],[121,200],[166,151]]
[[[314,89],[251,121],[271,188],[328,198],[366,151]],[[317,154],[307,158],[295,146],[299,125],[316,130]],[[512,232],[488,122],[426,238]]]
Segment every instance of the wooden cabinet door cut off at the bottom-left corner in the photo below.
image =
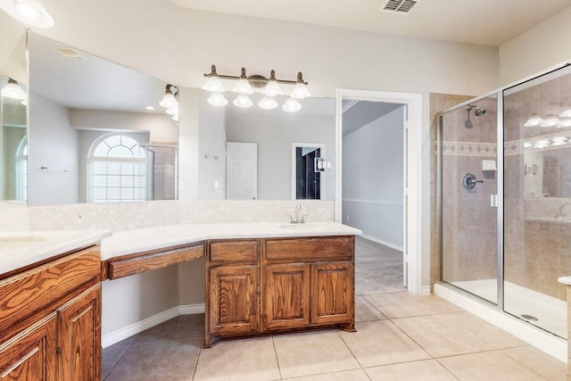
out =
[[53,381],[56,377],[55,314],[0,344],[0,379]]

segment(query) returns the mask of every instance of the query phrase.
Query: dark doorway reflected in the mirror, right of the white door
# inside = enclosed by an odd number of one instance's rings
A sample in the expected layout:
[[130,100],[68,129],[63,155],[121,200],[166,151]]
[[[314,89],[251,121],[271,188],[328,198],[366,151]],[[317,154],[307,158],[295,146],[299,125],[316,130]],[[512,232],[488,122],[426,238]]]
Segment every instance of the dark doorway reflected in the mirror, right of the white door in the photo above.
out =
[[319,200],[320,173],[315,172],[315,158],[321,157],[321,149],[297,147],[295,150],[295,198]]

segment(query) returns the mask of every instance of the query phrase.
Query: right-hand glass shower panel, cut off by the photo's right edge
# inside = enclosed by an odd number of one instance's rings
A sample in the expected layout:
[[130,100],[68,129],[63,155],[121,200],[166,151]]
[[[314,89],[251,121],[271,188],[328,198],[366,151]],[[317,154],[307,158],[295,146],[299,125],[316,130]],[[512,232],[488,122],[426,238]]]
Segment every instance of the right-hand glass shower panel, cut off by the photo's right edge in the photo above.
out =
[[504,311],[567,337],[571,69],[504,91]]

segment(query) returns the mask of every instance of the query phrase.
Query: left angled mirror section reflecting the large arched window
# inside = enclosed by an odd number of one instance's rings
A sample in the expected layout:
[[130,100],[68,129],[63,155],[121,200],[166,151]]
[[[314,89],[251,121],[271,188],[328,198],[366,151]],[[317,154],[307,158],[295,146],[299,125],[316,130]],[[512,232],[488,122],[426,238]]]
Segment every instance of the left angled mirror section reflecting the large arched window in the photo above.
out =
[[29,204],[175,199],[167,84],[35,33],[28,47]]

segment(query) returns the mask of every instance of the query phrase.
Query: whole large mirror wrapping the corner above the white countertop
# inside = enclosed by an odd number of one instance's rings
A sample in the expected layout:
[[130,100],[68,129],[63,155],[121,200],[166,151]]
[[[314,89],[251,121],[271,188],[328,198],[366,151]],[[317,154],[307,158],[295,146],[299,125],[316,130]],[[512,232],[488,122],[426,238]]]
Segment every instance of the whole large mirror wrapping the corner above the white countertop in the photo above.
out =
[[[206,91],[179,88],[176,122],[158,105],[165,82],[35,33],[28,44],[30,205],[302,198],[291,191],[292,145],[319,145],[335,162],[334,99],[305,99],[300,112],[267,111],[231,102],[214,107]],[[191,145],[184,138],[189,128]],[[252,193],[228,196],[228,176],[242,173],[227,162],[228,144],[256,147]],[[196,162],[190,171],[188,157]],[[320,192],[312,197],[333,200],[335,170],[317,176]]]

